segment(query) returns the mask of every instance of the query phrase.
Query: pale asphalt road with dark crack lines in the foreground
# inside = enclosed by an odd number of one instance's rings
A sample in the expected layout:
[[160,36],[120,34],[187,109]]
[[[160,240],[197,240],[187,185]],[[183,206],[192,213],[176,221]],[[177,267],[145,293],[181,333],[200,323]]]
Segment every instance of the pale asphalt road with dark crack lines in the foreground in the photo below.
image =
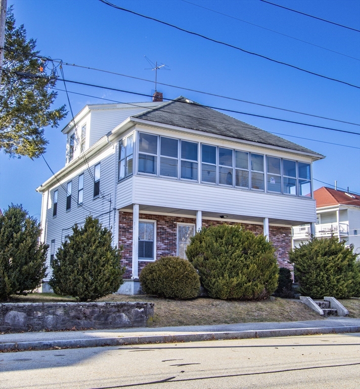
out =
[[1,389],[360,387],[360,334],[0,354]]

